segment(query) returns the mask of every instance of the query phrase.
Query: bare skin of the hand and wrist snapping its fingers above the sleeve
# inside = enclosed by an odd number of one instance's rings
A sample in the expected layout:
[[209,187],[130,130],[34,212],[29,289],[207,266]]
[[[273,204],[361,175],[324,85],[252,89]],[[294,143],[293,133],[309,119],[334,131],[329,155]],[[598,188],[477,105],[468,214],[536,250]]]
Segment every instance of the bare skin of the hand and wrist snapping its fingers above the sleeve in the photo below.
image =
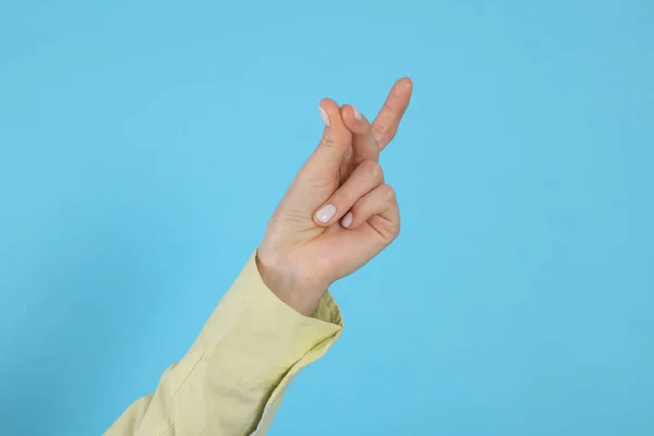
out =
[[[303,315],[311,316],[336,280],[361,268],[400,232],[398,202],[384,182],[379,153],[395,137],[412,88],[410,78],[397,81],[373,123],[350,105],[320,101],[328,125],[256,253],[266,286]],[[319,210],[328,204],[336,213],[323,222]]]

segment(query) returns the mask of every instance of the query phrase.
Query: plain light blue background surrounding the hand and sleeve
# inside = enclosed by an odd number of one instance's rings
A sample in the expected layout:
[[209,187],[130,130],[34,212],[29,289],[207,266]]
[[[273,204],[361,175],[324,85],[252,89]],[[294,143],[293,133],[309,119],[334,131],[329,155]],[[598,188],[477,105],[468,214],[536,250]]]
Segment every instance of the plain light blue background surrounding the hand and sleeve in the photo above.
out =
[[[97,4],[92,4],[97,3]],[[651,1],[3,1],[2,434],[100,434],[320,134],[415,94],[399,240],[271,435],[654,434]]]

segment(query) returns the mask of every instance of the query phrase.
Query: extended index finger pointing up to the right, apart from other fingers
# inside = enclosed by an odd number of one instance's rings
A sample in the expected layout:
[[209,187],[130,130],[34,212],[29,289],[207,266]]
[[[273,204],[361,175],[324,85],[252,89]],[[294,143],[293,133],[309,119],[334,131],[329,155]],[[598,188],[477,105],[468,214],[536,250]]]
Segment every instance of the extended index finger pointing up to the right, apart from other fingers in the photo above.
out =
[[373,132],[379,144],[379,150],[388,145],[398,132],[402,116],[409,107],[413,82],[402,77],[392,85],[377,118],[373,121]]

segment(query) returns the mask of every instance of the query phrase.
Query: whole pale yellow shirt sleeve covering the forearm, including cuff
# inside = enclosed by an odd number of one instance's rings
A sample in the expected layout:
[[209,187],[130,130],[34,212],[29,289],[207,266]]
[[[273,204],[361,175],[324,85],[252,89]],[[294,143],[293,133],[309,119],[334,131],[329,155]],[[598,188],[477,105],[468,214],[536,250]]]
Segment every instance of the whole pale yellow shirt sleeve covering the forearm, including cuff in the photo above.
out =
[[279,300],[252,254],[183,359],[106,436],[265,435],[300,370],[342,329],[327,291],[313,317]]

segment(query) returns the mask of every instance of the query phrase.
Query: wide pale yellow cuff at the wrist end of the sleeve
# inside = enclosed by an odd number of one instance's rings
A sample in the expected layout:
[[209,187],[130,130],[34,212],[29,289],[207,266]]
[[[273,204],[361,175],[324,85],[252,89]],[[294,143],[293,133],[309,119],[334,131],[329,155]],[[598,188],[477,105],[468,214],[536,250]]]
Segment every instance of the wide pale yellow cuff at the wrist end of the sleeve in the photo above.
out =
[[205,358],[250,385],[271,387],[305,354],[318,346],[328,348],[342,329],[342,317],[329,291],[311,317],[288,306],[262,280],[255,255],[209,317],[196,346]]

